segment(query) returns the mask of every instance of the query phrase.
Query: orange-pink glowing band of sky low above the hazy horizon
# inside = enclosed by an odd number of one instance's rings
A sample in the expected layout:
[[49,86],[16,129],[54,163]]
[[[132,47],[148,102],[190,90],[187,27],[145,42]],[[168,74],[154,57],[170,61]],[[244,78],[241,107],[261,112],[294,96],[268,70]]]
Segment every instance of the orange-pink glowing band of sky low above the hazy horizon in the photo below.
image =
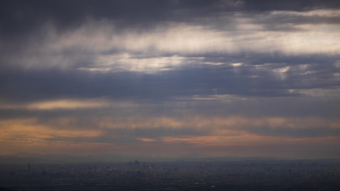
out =
[[[45,121],[45,124],[36,118],[1,120],[2,128],[0,135],[0,154],[16,152],[38,152],[38,153],[69,153],[86,155],[90,153],[149,153],[157,154],[168,150],[173,154],[188,152],[188,150],[209,153],[217,156],[227,154],[254,155],[256,150],[264,152],[267,148],[273,152],[274,147],[285,150],[288,147],[310,148],[313,145],[340,145],[336,136],[327,137],[289,137],[275,135],[261,135],[253,132],[253,128],[268,126],[276,128],[285,126],[287,128],[314,128],[327,125],[331,128],[339,128],[339,121],[330,121],[320,118],[126,118],[120,121],[113,118],[99,119],[100,128],[82,128],[76,125],[76,119],[60,118],[56,121]],[[113,124],[113,122],[116,124]],[[75,126],[70,126],[74,124]],[[107,125],[109,124],[109,125]],[[135,129],[158,129],[168,124],[172,130],[194,129],[201,130],[205,135],[176,135],[140,137],[127,136],[127,134],[116,134],[115,131],[107,133],[112,128],[115,130]],[[65,127],[61,127],[65,126]],[[249,131],[251,130],[251,131]],[[102,142],[104,141],[104,142]],[[123,141],[123,142],[122,142]],[[122,143],[121,143],[122,142]],[[254,149],[254,152],[251,151]],[[241,152],[244,150],[244,152]],[[248,154],[247,154],[248,153]],[[168,155],[171,155],[168,153]]]

